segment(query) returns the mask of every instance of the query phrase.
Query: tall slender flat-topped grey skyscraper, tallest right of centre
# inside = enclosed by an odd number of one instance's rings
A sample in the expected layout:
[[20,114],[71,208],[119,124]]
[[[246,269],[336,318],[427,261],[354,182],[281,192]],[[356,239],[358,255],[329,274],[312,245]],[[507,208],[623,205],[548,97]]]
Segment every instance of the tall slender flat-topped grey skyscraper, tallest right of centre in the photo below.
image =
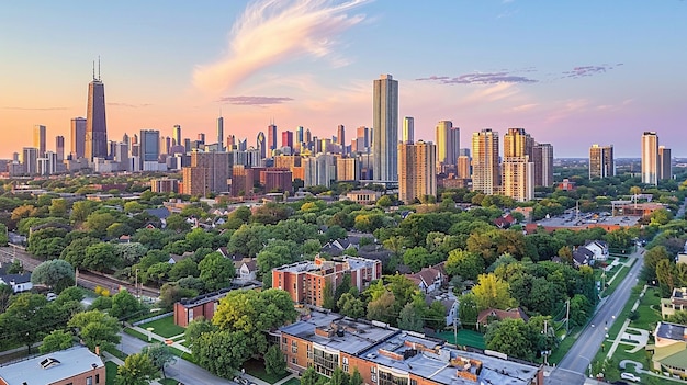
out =
[[373,83],[372,166],[378,181],[398,180],[398,81],[382,75]]

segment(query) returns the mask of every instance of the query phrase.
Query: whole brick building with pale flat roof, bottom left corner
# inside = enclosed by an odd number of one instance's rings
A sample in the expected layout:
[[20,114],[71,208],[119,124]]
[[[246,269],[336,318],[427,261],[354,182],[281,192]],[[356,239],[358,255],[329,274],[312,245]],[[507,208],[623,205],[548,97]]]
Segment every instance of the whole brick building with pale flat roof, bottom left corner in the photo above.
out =
[[100,385],[105,364],[86,347],[74,347],[0,367],[0,384]]

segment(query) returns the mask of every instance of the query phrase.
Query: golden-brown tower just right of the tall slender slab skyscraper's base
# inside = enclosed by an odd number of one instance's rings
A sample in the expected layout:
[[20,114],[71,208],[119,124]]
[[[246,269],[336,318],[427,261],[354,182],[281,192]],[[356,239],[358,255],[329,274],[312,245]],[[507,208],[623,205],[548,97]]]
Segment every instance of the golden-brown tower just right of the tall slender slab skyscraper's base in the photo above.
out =
[[428,202],[437,196],[437,146],[431,141],[398,145],[398,200]]

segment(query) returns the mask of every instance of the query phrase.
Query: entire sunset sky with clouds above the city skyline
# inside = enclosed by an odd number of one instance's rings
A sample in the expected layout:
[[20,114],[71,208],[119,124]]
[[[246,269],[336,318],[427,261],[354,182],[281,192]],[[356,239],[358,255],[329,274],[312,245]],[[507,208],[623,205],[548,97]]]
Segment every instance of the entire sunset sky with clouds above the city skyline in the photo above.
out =
[[36,124],[69,152],[98,57],[110,140],[176,124],[212,138],[222,114],[254,146],[272,121],[318,137],[344,124],[349,141],[390,73],[416,140],[450,120],[461,147],[523,127],[556,158],[639,157],[655,131],[687,156],[686,36],[680,0],[3,1],[0,158]]

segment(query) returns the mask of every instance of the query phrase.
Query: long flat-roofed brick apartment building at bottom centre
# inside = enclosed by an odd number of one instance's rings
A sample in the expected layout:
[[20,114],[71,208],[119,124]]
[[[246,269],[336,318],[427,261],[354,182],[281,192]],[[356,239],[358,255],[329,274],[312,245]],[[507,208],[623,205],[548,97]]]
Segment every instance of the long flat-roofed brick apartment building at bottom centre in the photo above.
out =
[[279,330],[288,367],[314,367],[330,376],[339,366],[360,372],[367,385],[543,385],[543,366],[514,362],[503,354],[468,352],[443,340],[314,312],[306,320]]

